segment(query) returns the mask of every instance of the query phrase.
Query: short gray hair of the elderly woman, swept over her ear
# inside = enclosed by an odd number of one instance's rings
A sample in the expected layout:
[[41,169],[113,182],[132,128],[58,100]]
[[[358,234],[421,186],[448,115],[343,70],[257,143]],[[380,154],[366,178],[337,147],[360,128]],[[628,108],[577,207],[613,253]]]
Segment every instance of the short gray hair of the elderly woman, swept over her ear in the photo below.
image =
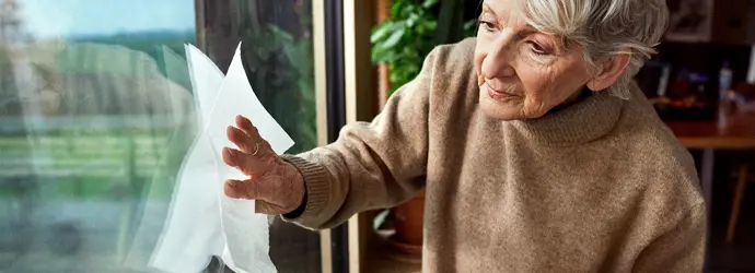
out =
[[[608,92],[629,98],[632,78],[655,54],[669,24],[665,0],[520,0],[527,23],[584,48],[585,61],[629,54],[625,74]],[[625,49],[629,49],[627,52]]]

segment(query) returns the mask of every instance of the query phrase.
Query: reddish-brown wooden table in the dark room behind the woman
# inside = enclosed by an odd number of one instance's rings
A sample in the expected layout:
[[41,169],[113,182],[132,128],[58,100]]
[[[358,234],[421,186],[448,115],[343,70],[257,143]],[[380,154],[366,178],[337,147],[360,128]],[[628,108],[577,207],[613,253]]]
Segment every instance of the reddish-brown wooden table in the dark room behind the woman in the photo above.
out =
[[706,201],[708,238],[710,238],[715,152],[716,150],[755,151],[755,115],[732,116],[725,126],[721,127],[718,121],[666,121],[666,126],[682,144],[690,150],[702,151],[700,182]]

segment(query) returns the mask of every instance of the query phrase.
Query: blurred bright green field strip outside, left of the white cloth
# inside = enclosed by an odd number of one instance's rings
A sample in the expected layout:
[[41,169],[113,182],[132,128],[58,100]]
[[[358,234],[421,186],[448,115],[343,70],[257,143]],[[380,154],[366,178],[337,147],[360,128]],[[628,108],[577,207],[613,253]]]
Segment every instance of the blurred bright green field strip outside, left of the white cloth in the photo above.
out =
[[[35,138],[0,136],[0,195],[14,194],[3,181],[34,178],[37,193],[55,199],[170,198],[185,149],[171,150],[171,134],[103,131]],[[183,145],[184,147],[186,145]]]

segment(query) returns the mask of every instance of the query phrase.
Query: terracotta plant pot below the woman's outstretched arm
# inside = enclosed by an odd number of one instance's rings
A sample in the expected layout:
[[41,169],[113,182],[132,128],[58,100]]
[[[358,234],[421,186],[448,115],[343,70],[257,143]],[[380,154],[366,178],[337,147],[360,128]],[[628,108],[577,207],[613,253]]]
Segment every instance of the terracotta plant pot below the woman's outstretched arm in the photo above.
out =
[[409,201],[391,210],[395,234],[390,244],[399,252],[409,256],[422,254],[422,230],[425,221],[425,190]]

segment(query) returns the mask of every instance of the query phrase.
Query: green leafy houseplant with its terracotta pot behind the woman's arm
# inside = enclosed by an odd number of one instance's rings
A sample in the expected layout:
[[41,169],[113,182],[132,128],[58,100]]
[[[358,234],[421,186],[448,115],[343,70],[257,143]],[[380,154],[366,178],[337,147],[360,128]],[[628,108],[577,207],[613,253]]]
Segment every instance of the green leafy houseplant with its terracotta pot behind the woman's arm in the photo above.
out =
[[[475,31],[475,20],[465,19],[463,0],[394,0],[391,8],[390,17],[370,37],[372,61],[387,66],[390,86],[382,86],[388,90],[381,94],[388,96],[419,74],[435,46],[458,41]],[[425,190],[391,210],[395,227],[391,242],[397,250],[421,254],[423,212]]]

